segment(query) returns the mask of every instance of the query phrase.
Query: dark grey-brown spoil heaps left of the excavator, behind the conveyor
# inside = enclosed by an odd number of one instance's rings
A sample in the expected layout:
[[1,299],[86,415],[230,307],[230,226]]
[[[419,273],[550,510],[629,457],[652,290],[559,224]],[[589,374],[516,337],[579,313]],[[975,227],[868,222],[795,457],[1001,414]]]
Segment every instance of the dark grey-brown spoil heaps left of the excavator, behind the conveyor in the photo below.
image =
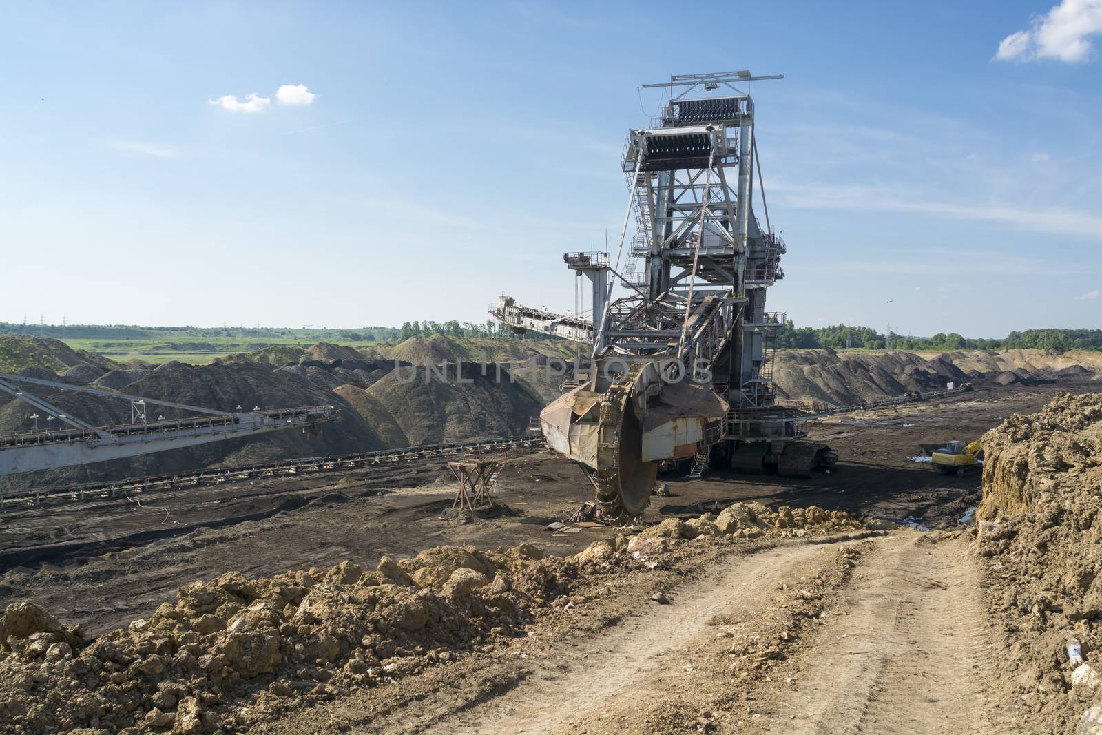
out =
[[[421,366],[383,357],[377,352],[365,353],[322,343],[305,350],[269,348],[213,365],[172,361],[156,368],[116,365],[73,352],[54,339],[8,338],[0,345],[0,348],[10,348],[8,353],[0,352],[13,360],[8,369],[30,377],[225,411],[253,407],[336,406],[342,409],[342,420],[312,432],[274,432],[251,440],[231,440],[132,460],[20,475],[0,480],[0,491],[6,487],[95,482],[216,464],[516,435],[539,414],[558,386],[552,387],[537,365],[547,359],[542,353],[528,347],[527,343],[508,344],[507,352],[518,357],[527,355],[519,367],[488,363],[483,370],[480,365],[468,361],[457,375],[455,363],[466,359],[467,352],[473,348],[461,349],[462,345],[444,338],[408,341],[398,346],[404,347],[410,356],[419,353],[421,358],[429,360]],[[396,348],[395,352],[400,350]],[[57,375],[54,370],[64,372]],[[111,401],[47,388],[34,392],[90,423],[107,425],[130,421],[129,406],[123,400]],[[154,410],[154,417],[184,415],[172,409]],[[34,411],[20,401],[0,394],[0,434],[33,431],[32,413]],[[37,428],[56,429],[56,423],[48,424],[40,417]]]

